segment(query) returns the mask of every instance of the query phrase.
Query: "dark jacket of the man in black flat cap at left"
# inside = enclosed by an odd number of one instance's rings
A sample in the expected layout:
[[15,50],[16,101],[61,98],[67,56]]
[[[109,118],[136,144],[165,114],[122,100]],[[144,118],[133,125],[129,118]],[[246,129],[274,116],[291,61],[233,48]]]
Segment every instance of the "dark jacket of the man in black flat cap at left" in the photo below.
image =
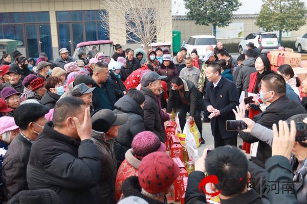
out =
[[2,164],[5,197],[9,200],[23,190],[29,190],[27,166],[32,143],[19,133],[10,144]]

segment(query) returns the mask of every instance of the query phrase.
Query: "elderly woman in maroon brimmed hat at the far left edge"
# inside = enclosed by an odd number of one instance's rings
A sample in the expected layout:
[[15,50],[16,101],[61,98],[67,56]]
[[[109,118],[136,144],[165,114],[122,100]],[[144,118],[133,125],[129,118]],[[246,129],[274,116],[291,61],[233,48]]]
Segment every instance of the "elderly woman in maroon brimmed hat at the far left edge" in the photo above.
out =
[[18,106],[20,106],[20,92],[17,92],[13,87],[5,87],[1,92],[1,97],[5,99],[8,107],[13,109],[11,112],[7,112],[5,115],[14,117],[14,112]]

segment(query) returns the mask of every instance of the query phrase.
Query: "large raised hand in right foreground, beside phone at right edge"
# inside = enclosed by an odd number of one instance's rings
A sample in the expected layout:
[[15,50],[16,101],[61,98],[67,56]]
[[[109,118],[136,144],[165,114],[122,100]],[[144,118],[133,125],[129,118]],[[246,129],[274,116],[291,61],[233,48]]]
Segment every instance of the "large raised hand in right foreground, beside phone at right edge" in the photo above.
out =
[[290,159],[290,154],[295,143],[296,127],[295,122],[291,121],[291,131],[287,122],[279,120],[279,133],[276,124],[273,124],[273,142],[272,142],[272,156],[280,155]]

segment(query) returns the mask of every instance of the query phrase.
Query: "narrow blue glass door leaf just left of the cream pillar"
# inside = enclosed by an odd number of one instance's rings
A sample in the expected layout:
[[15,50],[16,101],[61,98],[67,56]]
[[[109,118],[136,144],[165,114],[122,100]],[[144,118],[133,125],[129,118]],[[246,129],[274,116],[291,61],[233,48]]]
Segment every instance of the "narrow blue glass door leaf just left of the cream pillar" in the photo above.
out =
[[52,45],[51,45],[51,32],[50,25],[40,24],[39,25],[39,44],[41,53],[46,53],[49,60],[53,60],[52,56]]

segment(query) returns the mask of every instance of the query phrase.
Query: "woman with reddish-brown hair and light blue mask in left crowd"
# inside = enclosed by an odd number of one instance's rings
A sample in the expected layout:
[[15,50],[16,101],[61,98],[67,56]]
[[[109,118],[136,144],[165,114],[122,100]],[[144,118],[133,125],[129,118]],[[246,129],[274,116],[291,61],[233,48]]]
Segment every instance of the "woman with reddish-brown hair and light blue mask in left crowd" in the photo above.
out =
[[59,77],[49,77],[46,83],[46,89],[47,91],[42,96],[40,104],[47,106],[49,109],[53,109],[56,102],[64,93],[62,80]]

